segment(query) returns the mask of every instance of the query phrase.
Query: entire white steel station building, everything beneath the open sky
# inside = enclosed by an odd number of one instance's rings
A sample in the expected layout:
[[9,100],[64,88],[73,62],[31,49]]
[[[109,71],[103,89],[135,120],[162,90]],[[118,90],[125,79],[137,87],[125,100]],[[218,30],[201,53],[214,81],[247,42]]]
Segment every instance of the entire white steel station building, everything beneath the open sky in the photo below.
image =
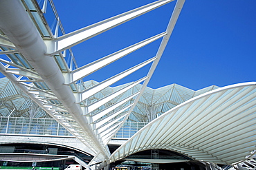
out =
[[[184,2],[154,1],[66,34],[52,0],[0,1],[1,169],[255,169],[255,82],[147,87]],[[168,3],[164,32],[77,65],[71,47]],[[154,57],[122,61],[154,41]],[[116,62],[126,70],[84,79]]]

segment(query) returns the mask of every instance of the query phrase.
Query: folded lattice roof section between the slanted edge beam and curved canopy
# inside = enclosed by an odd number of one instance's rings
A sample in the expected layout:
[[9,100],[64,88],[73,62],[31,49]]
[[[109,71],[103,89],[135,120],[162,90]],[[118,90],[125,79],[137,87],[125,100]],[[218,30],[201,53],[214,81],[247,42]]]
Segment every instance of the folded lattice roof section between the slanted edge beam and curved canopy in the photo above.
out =
[[[140,85],[136,85],[134,88],[140,89]],[[150,122],[186,100],[217,88],[217,86],[212,85],[194,91],[177,84],[167,85],[158,89],[147,87],[140,97],[140,100],[138,100],[136,107],[134,107],[134,110],[131,112],[129,120]]]

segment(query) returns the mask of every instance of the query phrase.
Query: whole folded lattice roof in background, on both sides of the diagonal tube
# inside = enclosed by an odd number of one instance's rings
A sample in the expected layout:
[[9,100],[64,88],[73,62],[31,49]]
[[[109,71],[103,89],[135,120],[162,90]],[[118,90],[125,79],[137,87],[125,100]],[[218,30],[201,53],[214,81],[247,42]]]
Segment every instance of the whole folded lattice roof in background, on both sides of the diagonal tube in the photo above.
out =
[[[9,116],[10,113],[12,113],[12,117],[51,118],[51,116],[49,116],[46,111],[44,111],[44,109],[39,107],[37,103],[31,100],[23,91],[21,91],[21,89],[19,89],[19,87],[8,80],[8,78],[1,78],[0,83],[1,116]],[[98,82],[96,81],[86,81],[84,82],[84,87],[88,88],[97,84]],[[118,87],[107,87],[98,94],[91,96],[88,100],[88,104],[100,100],[100,98],[104,98],[113,92],[117,92],[119,89],[122,89],[122,87],[125,87],[129,84],[131,83],[120,85]],[[129,89],[126,93],[123,93],[118,97],[109,100],[104,105],[95,109],[93,114],[97,114],[99,111],[102,111],[113,105],[113,103],[120,102],[120,100],[123,100],[127,96],[131,96],[134,94],[134,92],[138,92],[141,86],[142,85],[138,84]],[[216,88],[218,87],[212,85],[210,87],[194,91],[177,84],[167,85],[158,89],[146,87],[142,96],[138,100],[136,107],[134,107],[134,110],[131,111],[127,121],[147,123],[151,120],[154,120],[154,118],[157,116],[165,113],[165,111],[168,111],[176,105],[183,103],[185,100],[193,98],[194,96],[198,96],[199,94],[209,92],[210,90]],[[135,98],[131,98],[131,100],[127,101],[123,105],[129,105],[133,100],[135,100]],[[122,105],[116,109],[113,109],[112,112],[114,113],[121,108]]]

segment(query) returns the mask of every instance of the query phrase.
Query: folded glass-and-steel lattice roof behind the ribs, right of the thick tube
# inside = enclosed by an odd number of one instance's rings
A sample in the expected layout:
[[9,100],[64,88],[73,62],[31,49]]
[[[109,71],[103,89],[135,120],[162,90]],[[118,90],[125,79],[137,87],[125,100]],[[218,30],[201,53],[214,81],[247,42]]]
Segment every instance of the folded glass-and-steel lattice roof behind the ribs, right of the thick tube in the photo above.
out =
[[[96,81],[84,82],[84,85],[86,87],[91,87],[92,85],[97,85],[97,84],[98,82]],[[125,85],[120,85],[118,87],[107,87],[106,89],[103,89],[98,94],[91,96],[88,100],[88,103],[89,104],[93,103],[97,100],[100,100],[100,98],[104,98],[113,92],[118,92],[119,89],[122,89],[123,87],[126,87],[127,85],[130,85],[130,84],[131,83],[127,83]],[[93,114],[97,114],[99,111],[102,111],[103,109],[106,109],[110,105],[113,105],[113,103],[118,103],[124,98],[126,98],[127,96],[131,96],[132,94],[139,92],[141,87],[142,85],[140,84],[135,85],[134,87],[131,87],[131,89],[127,90],[127,92],[119,95],[116,98],[113,98],[112,100],[109,100],[109,102],[106,103],[105,105],[98,107],[95,111],[93,111]],[[206,87],[204,89],[194,91],[192,89],[188,89],[186,87],[183,87],[177,84],[167,85],[165,87],[161,87],[158,89],[145,87],[144,92],[142,93],[134,109],[131,111],[131,114],[127,120],[131,122],[148,123],[154,120],[157,116],[160,116],[161,114],[165,113],[165,111],[172,109],[173,107],[185,102],[186,100],[189,100],[190,98],[193,98],[195,96],[198,96],[205,92],[209,92],[212,89],[217,89],[217,88],[218,88],[217,86],[212,85],[210,87]],[[131,98],[129,101],[124,103],[123,106],[127,106],[131,104],[134,100],[136,100],[136,98]],[[123,106],[113,109],[112,112],[114,113],[120,110]],[[123,113],[125,112],[127,111],[123,111]]]

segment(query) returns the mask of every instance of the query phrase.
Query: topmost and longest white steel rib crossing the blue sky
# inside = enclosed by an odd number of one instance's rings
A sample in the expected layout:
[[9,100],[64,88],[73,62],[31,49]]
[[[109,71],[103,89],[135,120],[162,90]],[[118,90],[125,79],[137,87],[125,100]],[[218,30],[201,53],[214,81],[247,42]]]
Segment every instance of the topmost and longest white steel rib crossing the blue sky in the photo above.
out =
[[151,10],[154,10],[158,7],[165,5],[166,3],[170,3],[171,1],[174,1],[174,0],[155,1],[153,3],[149,3],[140,8],[130,10],[128,12],[119,14],[115,17],[111,17],[104,21],[94,23],[93,25],[89,25],[80,30],[76,30],[69,34],[65,34],[53,41],[46,41],[46,44],[48,44],[48,52],[47,53],[48,53],[48,55],[53,56],[57,53],[60,53],[64,50],[70,48],[70,47],[73,47],[74,45],[82,43],[83,41],[86,41],[87,39],[91,39],[93,36],[101,34],[102,32],[105,32],[111,28],[114,28],[122,23],[125,23],[125,22],[131,20],[131,19],[139,17],[140,15],[145,14],[146,12],[149,12]]

